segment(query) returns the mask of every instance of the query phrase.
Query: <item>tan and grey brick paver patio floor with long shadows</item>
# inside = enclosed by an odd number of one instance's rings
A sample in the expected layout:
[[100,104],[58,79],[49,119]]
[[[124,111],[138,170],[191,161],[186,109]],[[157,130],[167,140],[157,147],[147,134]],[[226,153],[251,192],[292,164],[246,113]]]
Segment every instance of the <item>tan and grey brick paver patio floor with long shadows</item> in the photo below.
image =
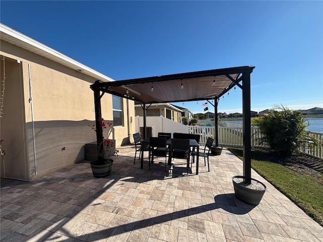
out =
[[29,183],[2,180],[1,241],[323,241],[323,227],[254,171],[263,199],[237,200],[231,177],[242,161],[226,149],[210,172],[201,159],[198,175],[169,174],[162,158],[140,169],[133,156],[122,147],[107,178],[84,162]]

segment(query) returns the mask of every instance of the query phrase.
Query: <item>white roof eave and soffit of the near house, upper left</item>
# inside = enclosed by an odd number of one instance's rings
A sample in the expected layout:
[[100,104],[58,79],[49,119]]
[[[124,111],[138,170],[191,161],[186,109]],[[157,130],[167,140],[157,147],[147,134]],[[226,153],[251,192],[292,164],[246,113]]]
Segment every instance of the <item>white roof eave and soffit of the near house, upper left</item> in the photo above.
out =
[[34,40],[2,23],[0,23],[0,39],[4,40],[10,44],[16,45],[20,48],[26,49],[30,52],[43,56],[50,59],[53,62],[59,63],[75,71],[81,72],[87,76],[93,77],[96,80],[101,80],[102,82],[115,81],[114,79],[105,76],[77,61],[68,57],[61,52],[52,49],[37,40]]

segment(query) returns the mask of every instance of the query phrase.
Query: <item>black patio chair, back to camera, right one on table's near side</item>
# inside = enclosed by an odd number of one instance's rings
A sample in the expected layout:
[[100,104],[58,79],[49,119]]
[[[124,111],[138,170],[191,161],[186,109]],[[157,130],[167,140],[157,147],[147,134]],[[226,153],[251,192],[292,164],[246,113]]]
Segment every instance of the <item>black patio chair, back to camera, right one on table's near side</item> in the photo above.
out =
[[[190,167],[190,141],[188,139],[172,139],[170,148],[170,160],[172,159],[185,159],[187,163],[187,173]],[[166,170],[167,164],[165,164]]]

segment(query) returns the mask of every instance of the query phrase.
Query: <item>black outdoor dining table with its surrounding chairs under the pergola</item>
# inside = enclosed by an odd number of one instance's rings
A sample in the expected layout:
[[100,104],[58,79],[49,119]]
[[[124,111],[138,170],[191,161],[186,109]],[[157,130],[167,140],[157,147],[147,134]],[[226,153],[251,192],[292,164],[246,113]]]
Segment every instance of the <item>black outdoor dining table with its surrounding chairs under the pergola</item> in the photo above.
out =
[[[134,164],[136,162],[136,155],[139,152],[139,159],[141,161],[140,168],[143,169],[143,154],[148,152],[149,169],[151,163],[153,163],[154,157],[165,157],[165,171],[167,167],[174,167],[179,163],[175,163],[175,159],[184,159],[186,161],[187,173],[192,164],[195,163],[196,156],[196,174],[198,174],[199,157],[204,157],[204,165],[209,169],[209,153],[213,144],[213,139],[208,137],[207,142],[202,152],[199,151],[199,139],[200,135],[197,134],[184,134],[184,133],[158,133],[157,137],[149,137],[145,140],[141,139],[140,134],[133,134],[135,143],[135,157]],[[192,157],[192,159],[191,159]],[[172,163],[173,162],[173,163]]]

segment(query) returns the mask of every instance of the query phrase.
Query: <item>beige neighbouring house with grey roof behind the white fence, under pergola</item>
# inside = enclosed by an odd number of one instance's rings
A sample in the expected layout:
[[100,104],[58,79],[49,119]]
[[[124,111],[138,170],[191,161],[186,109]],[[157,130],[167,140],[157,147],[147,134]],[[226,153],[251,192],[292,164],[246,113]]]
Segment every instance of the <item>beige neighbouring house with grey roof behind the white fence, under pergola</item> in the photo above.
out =
[[[143,116],[143,109],[139,103],[135,103],[135,115]],[[147,116],[163,116],[177,123],[182,123],[182,110],[170,103],[151,104],[146,111]]]

